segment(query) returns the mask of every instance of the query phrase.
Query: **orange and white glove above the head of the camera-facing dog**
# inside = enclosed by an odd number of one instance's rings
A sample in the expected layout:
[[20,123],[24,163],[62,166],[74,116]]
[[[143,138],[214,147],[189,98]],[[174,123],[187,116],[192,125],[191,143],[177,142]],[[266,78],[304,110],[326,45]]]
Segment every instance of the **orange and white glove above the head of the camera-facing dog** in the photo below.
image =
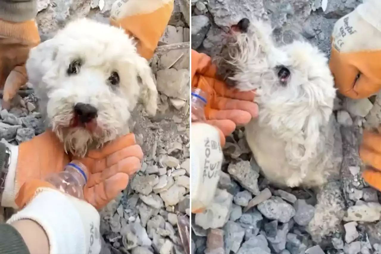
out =
[[116,0],[110,24],[137,40],[138,53],[150,59],[171,18],[174,0]]

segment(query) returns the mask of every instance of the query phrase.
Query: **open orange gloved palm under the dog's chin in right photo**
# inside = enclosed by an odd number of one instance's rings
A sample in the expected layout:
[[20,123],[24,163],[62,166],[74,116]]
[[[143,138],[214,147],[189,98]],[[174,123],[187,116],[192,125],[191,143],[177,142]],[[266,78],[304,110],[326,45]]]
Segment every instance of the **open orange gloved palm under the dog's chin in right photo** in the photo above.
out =
[[[236,125],[244,125],[258,115],[258,105],[253,102],[253,91],[239,92],[228,88],[216,79],[216,66],[209,56],[192,50],[192,87],[207,93],[205,117],[208,123],[230,135]],[[223,143],[221,141],[221,143]]]

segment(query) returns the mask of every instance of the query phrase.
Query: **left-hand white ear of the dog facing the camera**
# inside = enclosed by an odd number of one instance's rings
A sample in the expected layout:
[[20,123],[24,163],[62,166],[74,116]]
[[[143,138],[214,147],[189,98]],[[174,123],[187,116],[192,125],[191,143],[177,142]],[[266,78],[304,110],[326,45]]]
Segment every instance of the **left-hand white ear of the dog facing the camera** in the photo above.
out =
[[53,66],[58,52],[58,45],[54,39],[46,40],[29,51],[25,67],[32,88],[38,89],[46,72]]

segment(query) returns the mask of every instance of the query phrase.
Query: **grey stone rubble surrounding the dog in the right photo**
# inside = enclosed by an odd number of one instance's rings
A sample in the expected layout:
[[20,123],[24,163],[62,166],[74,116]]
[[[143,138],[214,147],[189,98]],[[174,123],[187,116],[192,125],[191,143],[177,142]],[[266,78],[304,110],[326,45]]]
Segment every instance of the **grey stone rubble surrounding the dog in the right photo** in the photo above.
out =
[[[211,56],[218,55],[226,37],[224,26],[255,16],[271,22],[278,43],[309,40],[329,55],[333,25],[361,2],[192,0],[192,48]],[[336,100],[334,114],[340,124],[342,142],[342,152],[337,158],[342,161],[338,185],[346,202],[346,218],[340,230],[320,245],[311,240],[306,225],[314,215],[315,194],[312,190],[281,190],[272,186],[251,159],[243,129],[240,129],[227,138],[215,201],[203,214],[192,216],[192,252],[381,253],[381,195],[361,179],[362,164],[357,152],[363,123],[373,102],[369,99]],[[219,240],[223,242],[222,248],[215,247]]]

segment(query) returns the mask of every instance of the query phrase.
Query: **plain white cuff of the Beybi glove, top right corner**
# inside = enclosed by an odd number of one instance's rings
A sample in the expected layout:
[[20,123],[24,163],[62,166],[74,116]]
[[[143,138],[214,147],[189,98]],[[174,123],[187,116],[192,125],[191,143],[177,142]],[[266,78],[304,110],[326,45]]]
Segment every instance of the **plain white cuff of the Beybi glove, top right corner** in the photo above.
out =
[[367,23],[374,26],[378,31],[381,31],[381,20],[379,18],[381,12],[380,0],[367,0],[356,8],[357,13]]

